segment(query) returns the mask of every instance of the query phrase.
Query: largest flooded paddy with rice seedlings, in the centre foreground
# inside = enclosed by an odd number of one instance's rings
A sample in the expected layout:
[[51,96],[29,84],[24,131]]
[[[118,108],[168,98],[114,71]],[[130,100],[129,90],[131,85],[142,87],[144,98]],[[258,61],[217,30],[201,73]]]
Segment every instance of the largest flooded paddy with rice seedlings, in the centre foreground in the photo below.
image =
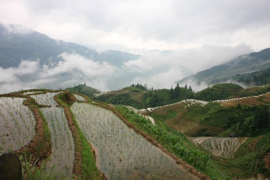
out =
[[112,112],[87,103],[74,103],[71,110],[108,179],[197,179]]

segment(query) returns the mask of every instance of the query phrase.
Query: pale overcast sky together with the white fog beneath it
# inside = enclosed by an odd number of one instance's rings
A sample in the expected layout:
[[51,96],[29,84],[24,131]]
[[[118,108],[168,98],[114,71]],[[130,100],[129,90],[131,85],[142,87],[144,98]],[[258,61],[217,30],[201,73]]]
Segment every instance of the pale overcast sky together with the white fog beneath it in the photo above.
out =
[[[131,83],[175,87],[184,77],[270,48],[269,9],[270,0],[0,0],[4,24],[23,25],[53,39],[98,48],[122,44],[144,49],[138,51],[140,59],[120,68],[63,53],[59,54],[63,62],[40,71],[38,62],[24,59],[18,67],[0,67],[0,93],[84,82],[101,91]],[[27,33],[26,28],[15,31]],[[80,66],[83,63],[87,66]],[[97,76],[89,74],[89,69]],[[35,80],[21,81],[30,74]],[[67,74],[71,77],[63,79]],[[206,87],[188,83],[195,91]]]

